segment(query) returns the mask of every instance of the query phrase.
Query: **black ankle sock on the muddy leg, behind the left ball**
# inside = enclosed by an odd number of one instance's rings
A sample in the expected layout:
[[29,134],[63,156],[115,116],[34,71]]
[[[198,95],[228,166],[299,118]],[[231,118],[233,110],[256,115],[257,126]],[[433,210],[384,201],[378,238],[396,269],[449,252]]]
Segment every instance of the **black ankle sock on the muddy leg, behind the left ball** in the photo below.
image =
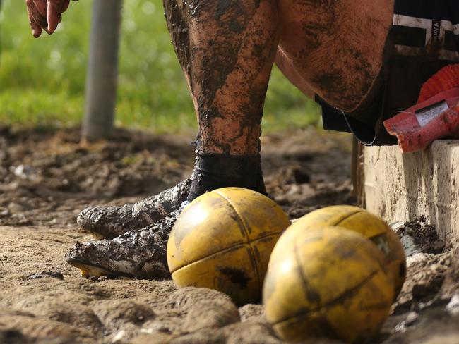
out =
[[189,202],[205,192],[228,186],[247,188],[266,195],[259,155],[198,153],[191,179]]

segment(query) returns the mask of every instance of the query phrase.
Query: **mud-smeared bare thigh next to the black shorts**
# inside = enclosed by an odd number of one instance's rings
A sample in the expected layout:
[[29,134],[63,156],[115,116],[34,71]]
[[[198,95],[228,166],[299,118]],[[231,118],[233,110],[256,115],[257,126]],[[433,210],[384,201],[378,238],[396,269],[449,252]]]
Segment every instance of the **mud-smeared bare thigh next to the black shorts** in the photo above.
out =
[[279,0],[278,8],[276,63],[294,85],[348,113],[372,100],[393,0]]

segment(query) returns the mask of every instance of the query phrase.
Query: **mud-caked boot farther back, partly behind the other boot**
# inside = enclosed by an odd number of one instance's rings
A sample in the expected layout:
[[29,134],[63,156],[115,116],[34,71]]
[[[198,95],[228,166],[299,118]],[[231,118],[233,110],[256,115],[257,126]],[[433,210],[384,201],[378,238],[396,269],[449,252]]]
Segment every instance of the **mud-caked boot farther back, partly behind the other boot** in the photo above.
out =
[[156,223],[167,214],[179,209],[186,200],[191,178],[158,195],[121,207],[89,207],[78,214],[77,222],[95,238],[112,239],[128,231],[134,231]]

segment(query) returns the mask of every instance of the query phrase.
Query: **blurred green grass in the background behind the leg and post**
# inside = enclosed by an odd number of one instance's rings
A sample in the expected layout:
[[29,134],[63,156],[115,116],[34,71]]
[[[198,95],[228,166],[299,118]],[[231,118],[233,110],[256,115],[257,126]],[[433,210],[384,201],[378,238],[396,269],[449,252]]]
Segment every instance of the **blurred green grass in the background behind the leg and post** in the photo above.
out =
[[[73,126],[81,123],[93,1],[72,3],[52,36],[33,39],[23,0],[0,12],[0,123]],[[117,125],[177,132],[195,128],[189,92],[170,43],[161,0],[125,0]],[[318,108],[275,69],[263,130],[317,123]]]

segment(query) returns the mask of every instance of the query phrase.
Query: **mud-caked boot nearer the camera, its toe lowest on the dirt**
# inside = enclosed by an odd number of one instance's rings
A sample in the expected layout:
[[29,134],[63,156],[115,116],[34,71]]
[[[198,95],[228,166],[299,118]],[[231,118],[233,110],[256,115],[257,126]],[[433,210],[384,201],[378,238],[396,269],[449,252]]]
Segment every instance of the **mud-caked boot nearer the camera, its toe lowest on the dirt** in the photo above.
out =
[[85,278],[100,276],[170,278],[167,268],[167,239],[181,209],[148,227],[129,231],[112,240],[76,242],[67,253],[68,264]]

